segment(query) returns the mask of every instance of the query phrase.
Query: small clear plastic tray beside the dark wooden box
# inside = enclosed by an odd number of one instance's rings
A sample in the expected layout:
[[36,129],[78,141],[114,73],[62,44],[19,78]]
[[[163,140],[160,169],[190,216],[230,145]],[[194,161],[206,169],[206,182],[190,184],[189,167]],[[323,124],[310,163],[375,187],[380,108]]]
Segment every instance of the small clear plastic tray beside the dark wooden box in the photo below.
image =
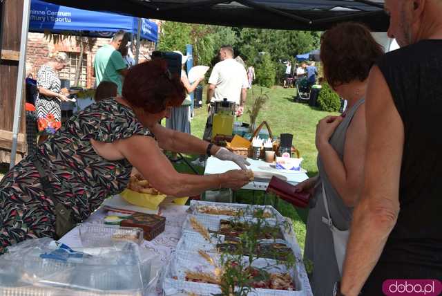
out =
[[144,240],[142,228],[83,223],[78,225],[78,231],[83,247],[115,246],[125,241],[140,245]]

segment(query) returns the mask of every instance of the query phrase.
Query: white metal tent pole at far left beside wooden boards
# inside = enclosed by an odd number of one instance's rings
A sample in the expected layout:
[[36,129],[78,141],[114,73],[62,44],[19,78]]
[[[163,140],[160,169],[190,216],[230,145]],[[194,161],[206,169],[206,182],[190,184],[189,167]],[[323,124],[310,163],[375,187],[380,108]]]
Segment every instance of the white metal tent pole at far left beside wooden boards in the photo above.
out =
[[26,67],[26,46],[28,44],[28,29],[29,29],[29,12],[30,0],[23,0],[23,19],[21,20],[21,41],[20,41],[20,59],[19,59],[19,73],[17,75],[17,89],[15,92],[15,109],[14,109],[14,123],[12,124],[12,147],[11,160],[9,167],[15,165],[15,154],[17,153],[17,141],[19,134],[21,102],[23,100],[23,82],[25,79]]

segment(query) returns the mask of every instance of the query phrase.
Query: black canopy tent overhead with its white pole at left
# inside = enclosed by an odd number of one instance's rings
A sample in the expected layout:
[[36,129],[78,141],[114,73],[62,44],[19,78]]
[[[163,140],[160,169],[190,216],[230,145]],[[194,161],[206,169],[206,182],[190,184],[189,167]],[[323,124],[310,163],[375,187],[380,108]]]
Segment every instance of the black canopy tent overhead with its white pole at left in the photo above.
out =
[[[46,0],[63,6],[108,11],[197,24],[279,28],[287,30],[326,30],[341,21],[361,21],[374,32],[385,32],[388,17],[383,0]],[[22,106],[30,0],[23,0],[23,20],[19,75],[15,98],[10,167],[15,165],[17,136]],[[138,30],[140,32],[140,28]],[[386,51],[394,42],[385,33],[374,36]]]

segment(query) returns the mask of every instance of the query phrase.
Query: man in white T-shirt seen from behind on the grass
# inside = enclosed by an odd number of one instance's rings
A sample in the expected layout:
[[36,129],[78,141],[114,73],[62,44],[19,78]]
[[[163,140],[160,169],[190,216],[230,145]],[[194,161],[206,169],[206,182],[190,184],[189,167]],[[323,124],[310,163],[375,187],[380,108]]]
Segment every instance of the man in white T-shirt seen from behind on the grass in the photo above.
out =
[[[233,48],[231,46],[222,46],[219,55],[221,62],[215,64],[209,77],[206,104],[227,98],[228,101],[235,102],[236,115],[240,116],[244,111],[247,88],[249,87],[246,70],[244,66],[233,59]],[[213,110],[209,108],[204,140],[211,140],[212,112]]]

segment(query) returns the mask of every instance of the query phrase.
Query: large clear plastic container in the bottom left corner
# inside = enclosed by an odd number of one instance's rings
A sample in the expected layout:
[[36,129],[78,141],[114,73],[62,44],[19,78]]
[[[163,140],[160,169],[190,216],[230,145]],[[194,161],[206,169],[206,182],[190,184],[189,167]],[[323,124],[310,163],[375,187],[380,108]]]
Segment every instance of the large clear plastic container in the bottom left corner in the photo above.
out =
[[77,248],[74,251],[83,255],[67,259],[41,257],[57,255],[57,250],[49,238],[10,247],[0,259],[0,295],[141,296],[152,280],[153,256],[144,260],[135,243]]

